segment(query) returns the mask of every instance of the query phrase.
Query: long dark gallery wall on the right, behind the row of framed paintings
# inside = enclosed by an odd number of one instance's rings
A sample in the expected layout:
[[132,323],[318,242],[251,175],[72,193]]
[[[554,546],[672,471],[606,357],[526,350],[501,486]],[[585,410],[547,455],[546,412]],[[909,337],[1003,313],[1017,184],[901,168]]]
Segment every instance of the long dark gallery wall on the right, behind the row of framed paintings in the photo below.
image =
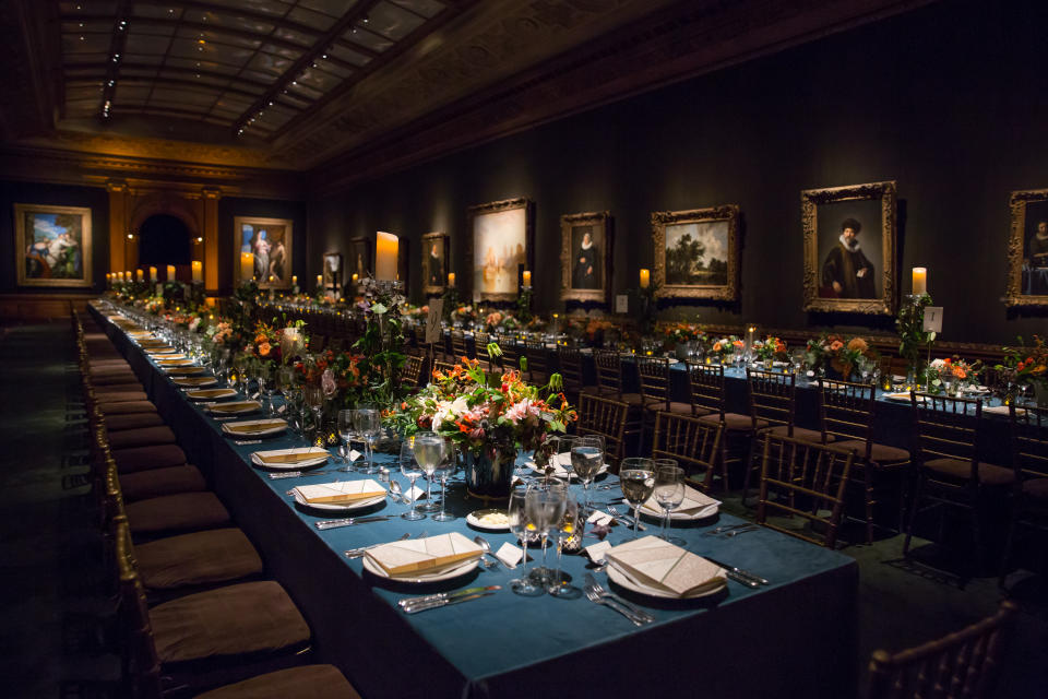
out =
[[[741,300],[667,316],[765,327],[892,329],[802,308],[803,189],[894,179],[901,289],[929,269],[943,337],[1009,342],[1045,329],[1010,313],[1008,199],[1048,187],[1044,2],[938,2],[767,58],[549,123],[309,204],[309,271],[356,236],[451,235],[466,276],[466,208],[535,202],[536,307],[558,301],[562,214],[610,211],[612,288],[652,266],[653,211],[739,204]],[[299,259],[300,261],[300,259]]]

